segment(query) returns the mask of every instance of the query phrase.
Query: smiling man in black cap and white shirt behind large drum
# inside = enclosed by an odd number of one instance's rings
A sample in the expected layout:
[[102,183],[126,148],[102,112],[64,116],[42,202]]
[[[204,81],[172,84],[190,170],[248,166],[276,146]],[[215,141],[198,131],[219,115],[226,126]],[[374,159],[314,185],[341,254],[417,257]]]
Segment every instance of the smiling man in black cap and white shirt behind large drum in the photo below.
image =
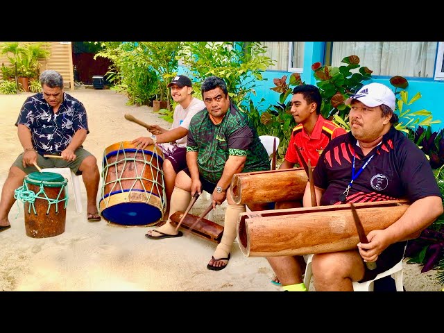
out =
[[165,161],[162,169],[164,171],[167,210],[162,220],[166,220],[169,216],[169,202],[173,193],[176,176],[179,171],[187,167],[186,155],[189,122],[194,114],[205,109],[203,101],[191,96],[193,88],[191,87],[191,80],[187,76],[175,76],[168,87],[171,87],[173,101],[178,103],[176,108],[174,108],[173,125],[171,125],[170,130],[166,130],[159,125],[151,125],[151,128],[148,129],[151,132],[150,137],[138,137],[131,142],[141,149],[150,144],[158,144],[164,153]]

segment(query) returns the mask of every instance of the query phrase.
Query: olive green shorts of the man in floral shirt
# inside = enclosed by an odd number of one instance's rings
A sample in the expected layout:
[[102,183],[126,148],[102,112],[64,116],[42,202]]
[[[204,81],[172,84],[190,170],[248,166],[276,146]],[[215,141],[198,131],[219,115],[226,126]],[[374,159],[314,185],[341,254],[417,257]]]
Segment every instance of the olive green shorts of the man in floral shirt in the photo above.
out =
[[[86,151],[83,148],[77,148],[77,150],[74,153],[76,154],[76,160],[72,162],[62,160],[61,158],[43,157],[42,155],[37,153],[37,165],[40,167],[40,169],[69,168],[71,169],[72,172],[77,173],[80,164],[82,164],[83,160],[85,160],[86,157],[90,155],[92,156],[92,153],[89,153],[89,151]],[[12,167],[17,167],[20,170],[24,171],[26,174],[38,171],[37,168],[34,167],[33,165],[27,165],[26,168],[23,167],[22,164],[23,154],[24,153],[21,153],[17,157],[17,160],[15,160],[15,162],[12,164]]]

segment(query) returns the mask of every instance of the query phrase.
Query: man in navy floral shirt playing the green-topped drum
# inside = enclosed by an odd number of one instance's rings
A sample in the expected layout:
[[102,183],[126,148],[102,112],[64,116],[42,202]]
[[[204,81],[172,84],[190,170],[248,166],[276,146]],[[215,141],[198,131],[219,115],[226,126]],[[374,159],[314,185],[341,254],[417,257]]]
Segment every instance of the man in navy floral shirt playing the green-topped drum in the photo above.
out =
[[[96,196],[100,173],[97,160],[83,149],[89,133],[87,114],[83,104],[63,92],[63,78],[57,71],[43,71],[40,75],[42,92],[29,96],[20,110],[17,126],[20,144],[23,146],[12,164],[3,185],[0,200],[0,231],[10,228],[9,211],[15,202],[14,191],[28,173],[40,168],[65,168],[81,171],[87,191],[88,221],[100,221]],[[59,155],[54,159],[44,154]]]

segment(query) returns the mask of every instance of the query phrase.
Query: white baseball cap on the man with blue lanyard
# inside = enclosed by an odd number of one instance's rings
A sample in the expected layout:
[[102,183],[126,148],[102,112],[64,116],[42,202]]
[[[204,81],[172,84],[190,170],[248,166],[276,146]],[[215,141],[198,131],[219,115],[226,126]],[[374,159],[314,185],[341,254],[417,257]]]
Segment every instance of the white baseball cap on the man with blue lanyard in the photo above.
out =
[[364,85],[358,92],[345,100],[345,105],[350,105],[352,99],[357,99],[361,103],[364,103],[370,108],[385,104],[392,111],[395,111],[395,94],[381,83],[370,83]]

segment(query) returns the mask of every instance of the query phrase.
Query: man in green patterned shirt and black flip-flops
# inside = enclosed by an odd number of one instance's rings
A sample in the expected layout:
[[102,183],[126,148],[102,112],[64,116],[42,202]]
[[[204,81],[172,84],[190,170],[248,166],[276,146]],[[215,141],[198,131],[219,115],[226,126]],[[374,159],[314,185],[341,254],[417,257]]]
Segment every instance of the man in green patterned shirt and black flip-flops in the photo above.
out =
[[[228,201],[221,242],[207,268],[219,271],[228,264],[236,239],[236,224],[245,205],[236,205],[227,191],[234,173],[270,169],[268,154],[248,115],[230,101],[225,81],[206,78],[201,87],[205,109],[191,119],[187,139],[187,168],[176,177],[171,195],[170,216],[185,212],[191,196],[203,190],[212,194],[213,207]],[[180,237],[168,219],[165,225],[146,234],[149,239]]]

